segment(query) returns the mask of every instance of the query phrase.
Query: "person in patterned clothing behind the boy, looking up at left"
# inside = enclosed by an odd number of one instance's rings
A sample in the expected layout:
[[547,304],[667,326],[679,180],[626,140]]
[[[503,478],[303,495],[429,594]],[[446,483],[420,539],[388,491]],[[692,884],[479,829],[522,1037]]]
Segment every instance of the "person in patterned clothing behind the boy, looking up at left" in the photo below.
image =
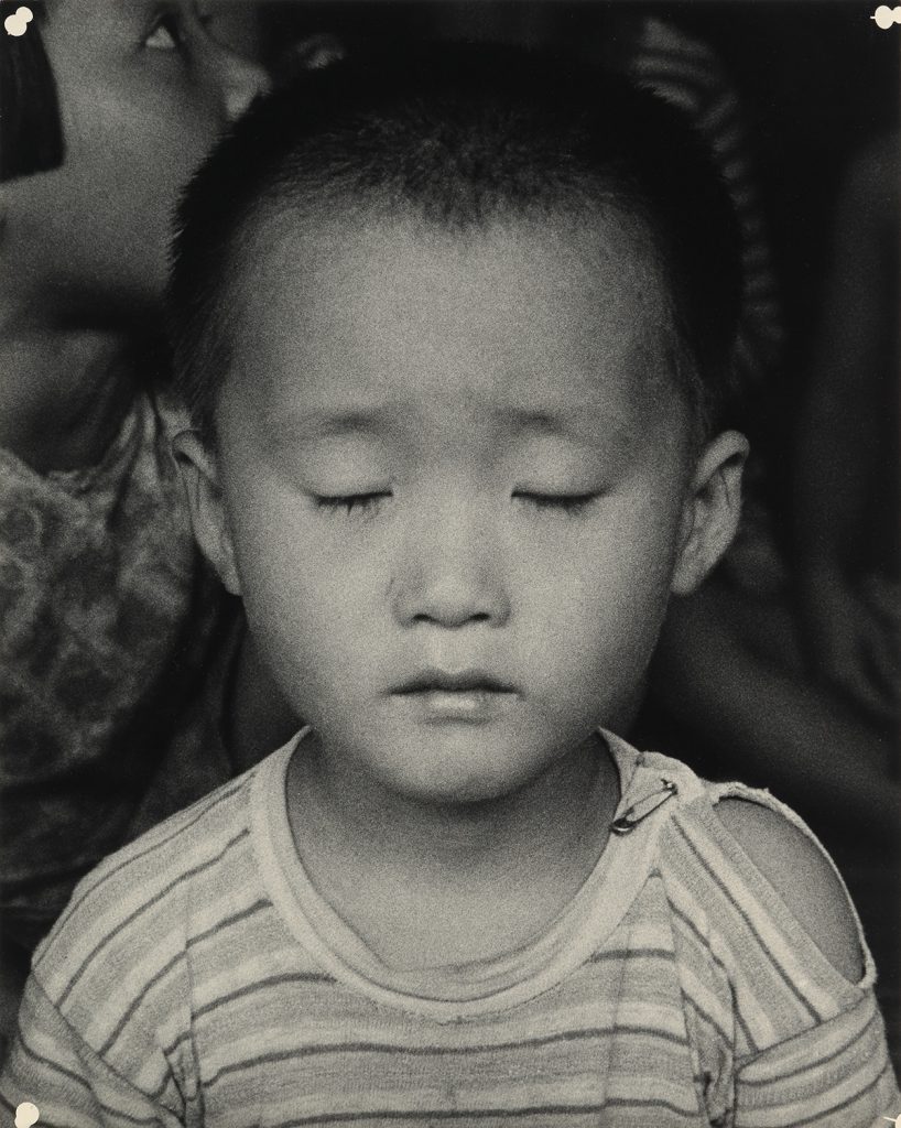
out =
[[[24,36],[0,33],[5,1028],[76,881],[256,755],[210,739],[238,616],[191,537],[158,325],[176,195],[266,78],[215,9],[30,7]],[[232,34],[254,19],[229,10]]]

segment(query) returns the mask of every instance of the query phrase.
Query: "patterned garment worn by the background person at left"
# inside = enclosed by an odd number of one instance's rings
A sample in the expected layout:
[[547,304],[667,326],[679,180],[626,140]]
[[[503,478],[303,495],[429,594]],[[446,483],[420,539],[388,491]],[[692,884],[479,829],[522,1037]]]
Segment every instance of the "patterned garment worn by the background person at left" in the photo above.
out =
[[98,466],[0,451],[0,914],[30,948],[101,857],[231,774],[204,679],[235,616],[140,396]]

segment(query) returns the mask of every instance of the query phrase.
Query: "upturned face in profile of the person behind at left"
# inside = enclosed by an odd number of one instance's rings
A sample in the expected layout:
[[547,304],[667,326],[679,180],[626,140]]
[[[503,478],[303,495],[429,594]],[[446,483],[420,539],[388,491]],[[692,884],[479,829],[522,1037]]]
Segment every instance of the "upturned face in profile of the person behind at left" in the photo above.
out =
[[161,292],[176,194],[265,81],[217,42],[217,19],[186,0],[51,0],[65,157],[23,191],[53,229],[58,285],[124,303]]

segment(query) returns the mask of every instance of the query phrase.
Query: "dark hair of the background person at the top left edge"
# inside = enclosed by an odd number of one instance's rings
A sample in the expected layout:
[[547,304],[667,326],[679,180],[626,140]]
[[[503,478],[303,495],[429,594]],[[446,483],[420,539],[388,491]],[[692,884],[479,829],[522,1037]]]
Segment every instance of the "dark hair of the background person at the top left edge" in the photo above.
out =
[[[0,21],[20,7],[0,0]],[[46,173],[62,165],[65,155],[56,82],[41,36],[45,5],[35,0],[28,7],[34,19],[25,35],[3,34],[0,180]]]

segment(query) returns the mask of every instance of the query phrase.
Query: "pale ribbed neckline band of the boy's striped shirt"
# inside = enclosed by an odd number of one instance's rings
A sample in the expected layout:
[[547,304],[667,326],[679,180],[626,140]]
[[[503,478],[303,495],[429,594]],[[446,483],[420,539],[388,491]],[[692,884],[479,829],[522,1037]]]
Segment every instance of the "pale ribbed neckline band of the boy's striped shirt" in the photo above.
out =
[[[291,935],[321,969],[373,1001],[439,1021],[503,1011],[556,986],[597,951],[643,887],[671,804],[653,809],[629,834],[610,835],[594,869],[563,911],[523,948],[471,963],[399,971],[388,967],[312,885],[294,848],[286,774],[304,729],[264,761],[250,799],[260,875]],[[599,730],[620,778],[618,818],[660,791],[659,770],[621,738]]]

